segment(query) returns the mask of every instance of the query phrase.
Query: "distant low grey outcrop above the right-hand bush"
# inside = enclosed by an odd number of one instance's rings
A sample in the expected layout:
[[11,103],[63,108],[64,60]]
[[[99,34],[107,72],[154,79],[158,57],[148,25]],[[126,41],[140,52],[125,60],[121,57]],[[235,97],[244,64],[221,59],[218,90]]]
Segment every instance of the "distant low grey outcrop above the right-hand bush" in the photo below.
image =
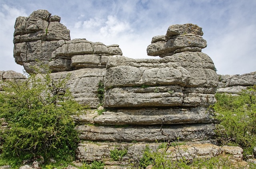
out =
[[218,75],[217,92],[237,94],[248,86],[256,85],[256,71],[243,75]]

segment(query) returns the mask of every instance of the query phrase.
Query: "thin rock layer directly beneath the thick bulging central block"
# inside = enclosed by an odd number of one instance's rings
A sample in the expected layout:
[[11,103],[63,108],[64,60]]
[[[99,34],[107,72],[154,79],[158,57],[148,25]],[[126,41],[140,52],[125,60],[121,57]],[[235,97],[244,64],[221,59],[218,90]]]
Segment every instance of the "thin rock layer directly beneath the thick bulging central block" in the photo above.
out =
[[[143,108],[143,109],[119,109],[115,112],[104,112],[102,115],[94,114],[91,122],[101,125],[156,125],[156,124],[194,124],[210,123],[208,108]],[[88,114],[80,117],[81,121],[89,122]]]

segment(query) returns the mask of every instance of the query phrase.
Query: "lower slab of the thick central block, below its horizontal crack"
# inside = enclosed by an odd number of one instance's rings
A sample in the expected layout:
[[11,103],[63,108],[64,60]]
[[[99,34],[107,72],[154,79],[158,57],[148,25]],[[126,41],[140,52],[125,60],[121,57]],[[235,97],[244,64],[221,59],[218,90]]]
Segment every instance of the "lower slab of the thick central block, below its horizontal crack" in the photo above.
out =
[[208,106],[216,100],[214,94],[183,93],[184,88],[158,86],[147,88],[112,88],[107,90],[104,106]]

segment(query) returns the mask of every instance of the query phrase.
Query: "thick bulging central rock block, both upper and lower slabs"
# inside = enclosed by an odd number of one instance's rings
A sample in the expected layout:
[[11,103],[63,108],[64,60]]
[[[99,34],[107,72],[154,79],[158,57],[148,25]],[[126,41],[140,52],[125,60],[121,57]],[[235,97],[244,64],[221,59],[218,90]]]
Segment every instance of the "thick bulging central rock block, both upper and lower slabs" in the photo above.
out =
[[208,106],[216,101],[214,68],[210,57],[201,52],[163,59],[110,57],[104,77],[104,106]]

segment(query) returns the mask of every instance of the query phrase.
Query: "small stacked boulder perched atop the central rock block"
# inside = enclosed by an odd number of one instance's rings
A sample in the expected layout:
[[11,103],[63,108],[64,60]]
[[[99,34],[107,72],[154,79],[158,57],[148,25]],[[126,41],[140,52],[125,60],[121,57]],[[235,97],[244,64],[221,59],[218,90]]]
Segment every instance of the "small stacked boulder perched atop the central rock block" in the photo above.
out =
[[147,48],[150,56],[166,57],[185,51],[201,51],[207,46],[202,28],[193,24],[172,25],[163,35],[152,38],[151,45]]

